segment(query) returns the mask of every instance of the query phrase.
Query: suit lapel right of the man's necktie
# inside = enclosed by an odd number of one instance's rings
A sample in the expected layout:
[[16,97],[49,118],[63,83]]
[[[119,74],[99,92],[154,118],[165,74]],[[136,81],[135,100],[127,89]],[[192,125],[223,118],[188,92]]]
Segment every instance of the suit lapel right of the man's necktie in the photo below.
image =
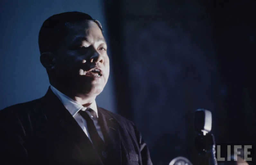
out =
[[98,109],[98,122],[102,128],[103,136],[105,139],[105,144],[109,148],[109,152],[113,153],[112,160],[115,161],[114,164],[121,165],[121,141],[118,125],[115,124],[115,120],[110,114],[106,113],[102,108]]

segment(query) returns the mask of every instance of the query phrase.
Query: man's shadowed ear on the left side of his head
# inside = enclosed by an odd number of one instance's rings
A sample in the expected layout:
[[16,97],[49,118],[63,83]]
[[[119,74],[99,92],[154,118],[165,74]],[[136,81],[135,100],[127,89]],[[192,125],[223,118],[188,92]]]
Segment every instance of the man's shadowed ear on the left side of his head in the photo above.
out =
[[55,68],[55,60],[55,55],[51,52],[44,52],[40,56],[41,64],[47,70],[52,70]]

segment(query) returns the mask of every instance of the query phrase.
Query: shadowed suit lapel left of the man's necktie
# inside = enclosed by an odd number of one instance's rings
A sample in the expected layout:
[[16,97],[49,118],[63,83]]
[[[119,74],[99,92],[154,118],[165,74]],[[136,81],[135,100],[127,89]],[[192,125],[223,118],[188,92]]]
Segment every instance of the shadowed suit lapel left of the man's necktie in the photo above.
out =
[[59,125],[66,135],[75,141],[84,156],[86,164],[103,164],[87,135],[85,135],[74,117],[63,106],[59,98],[51,91],[50,87],[44,99],[45,107],[43,109],[47,115],[52,117],[51,122]]

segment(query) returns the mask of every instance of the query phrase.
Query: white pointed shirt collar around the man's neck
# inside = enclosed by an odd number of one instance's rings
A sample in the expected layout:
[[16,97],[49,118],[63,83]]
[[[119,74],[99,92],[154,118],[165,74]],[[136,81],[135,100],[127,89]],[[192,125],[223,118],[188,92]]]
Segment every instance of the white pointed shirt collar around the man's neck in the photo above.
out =
[[69,96],[61,93],[59,90],[54,88],[52,85],[50,85],[50,88],[53,91],[53,93],[62,102],[64,107],[71,113],[71,115],[73,117],[78,113],[78,111],[80,109],[86,110],[87,108],[91,108],[92,110],[94,110],[96,112],[97,117],[98,117],[98,110],[97,110],[97,105],[96,105],[96,101],[95,100],[88,107],[84,107],[80,103],[78,103],[77,101],[71,99]]

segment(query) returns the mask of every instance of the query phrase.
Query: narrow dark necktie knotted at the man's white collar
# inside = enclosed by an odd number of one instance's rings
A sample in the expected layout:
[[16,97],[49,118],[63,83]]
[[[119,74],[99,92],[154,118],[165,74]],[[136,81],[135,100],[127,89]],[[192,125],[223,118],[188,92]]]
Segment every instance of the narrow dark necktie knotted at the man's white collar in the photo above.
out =
[[96,112],[92,109],[88,109],[86,111],[80,110],[78,113],[86,120],[88,133],[91,137],[92,143],[96,148],[100,157],[103,159],[102,161],[104,161],[104,159],[107,158],[107,154],[105,152],[106,151],[105,143],[99,136],[96,126],[93,122],[93,120],[97,120]]

